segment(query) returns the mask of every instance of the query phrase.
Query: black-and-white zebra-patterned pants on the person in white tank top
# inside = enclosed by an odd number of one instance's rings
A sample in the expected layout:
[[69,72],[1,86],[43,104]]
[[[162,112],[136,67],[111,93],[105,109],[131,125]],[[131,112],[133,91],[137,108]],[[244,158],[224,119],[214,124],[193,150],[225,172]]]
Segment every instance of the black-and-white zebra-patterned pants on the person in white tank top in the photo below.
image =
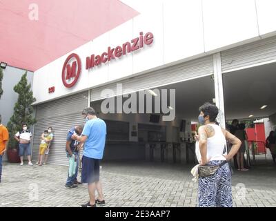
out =
[[[222,161],[213,160],[208,165],[218,165]],[[199,207],[232,207],[231,171],[228,164],[221,166],[217,173],[209,177],[199,177]]]

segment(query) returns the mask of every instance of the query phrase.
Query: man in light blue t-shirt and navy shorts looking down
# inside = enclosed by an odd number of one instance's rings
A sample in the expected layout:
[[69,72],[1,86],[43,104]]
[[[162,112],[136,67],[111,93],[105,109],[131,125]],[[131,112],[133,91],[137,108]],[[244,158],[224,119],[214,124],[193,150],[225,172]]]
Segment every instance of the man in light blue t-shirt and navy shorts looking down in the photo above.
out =
[[[96,207],[96,203],[104,205],[101,182],[99,182],[99,162],[103,158],[106,144],[106,123],[99,119],[93,108],[85,108],[82,112],[86,119],[81,136],[72,135],[72,139],[84,143],[82,158],[81,182],[88,184],[90,201],[82,207]],[[99,198],[95,200],[95,190]]]

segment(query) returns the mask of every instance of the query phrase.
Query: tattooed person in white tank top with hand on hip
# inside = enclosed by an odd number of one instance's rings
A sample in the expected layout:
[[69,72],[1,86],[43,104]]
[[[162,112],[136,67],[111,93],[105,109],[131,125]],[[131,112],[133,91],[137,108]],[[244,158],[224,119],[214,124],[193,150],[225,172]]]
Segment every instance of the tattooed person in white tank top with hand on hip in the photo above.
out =
[[[201,166],[219,166],[213,175],[199,176],[198,205],[199,207],[230,207],[233,206],[231,173],[228,161],[239,151],[242,142],[215,124],[219,113],[217,106],[205,103],[199,107],[199,145],[197,159]],[[224,153],[226,140],[233,146],[230,152]]]

